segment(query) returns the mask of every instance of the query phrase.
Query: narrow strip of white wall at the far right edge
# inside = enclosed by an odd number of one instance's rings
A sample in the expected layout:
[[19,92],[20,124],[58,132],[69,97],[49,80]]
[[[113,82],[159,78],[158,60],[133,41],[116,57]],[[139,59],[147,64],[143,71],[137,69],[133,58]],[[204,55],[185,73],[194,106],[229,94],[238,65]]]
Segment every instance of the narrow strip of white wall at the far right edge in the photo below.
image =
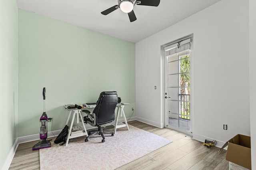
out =
[[[251,121],[251,154],[252,160],[256,160],[256,1],[249,0],[249,63],[250,63],[250,121]],[[252,161],[252,169],[256,169],[256,162]]]

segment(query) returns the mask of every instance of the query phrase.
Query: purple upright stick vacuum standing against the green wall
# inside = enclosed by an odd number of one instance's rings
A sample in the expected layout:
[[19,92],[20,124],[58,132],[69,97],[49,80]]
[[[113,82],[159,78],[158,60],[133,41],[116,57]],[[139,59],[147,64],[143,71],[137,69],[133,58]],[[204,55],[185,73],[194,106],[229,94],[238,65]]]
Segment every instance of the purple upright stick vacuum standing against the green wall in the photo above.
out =
[[42,139],[42,141],[35,144],[33,146],[32,150],[38,150],[38,149],[42,149],[42,148],[50,148],[51,147],[51,142],[46,140],[47,139],[48,117],[45,112],[45,87],[43,89],[43,97],[44,97],[44,113],[40,117],[40,139]]

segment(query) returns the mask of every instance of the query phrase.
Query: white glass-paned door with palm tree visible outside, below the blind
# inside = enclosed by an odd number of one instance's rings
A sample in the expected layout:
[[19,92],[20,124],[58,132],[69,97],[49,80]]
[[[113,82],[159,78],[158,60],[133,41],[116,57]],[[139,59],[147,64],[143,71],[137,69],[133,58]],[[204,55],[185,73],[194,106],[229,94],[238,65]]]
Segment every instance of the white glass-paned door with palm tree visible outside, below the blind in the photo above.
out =
[[190,133],[190,49],[165,56],[165,122],[168,128]]

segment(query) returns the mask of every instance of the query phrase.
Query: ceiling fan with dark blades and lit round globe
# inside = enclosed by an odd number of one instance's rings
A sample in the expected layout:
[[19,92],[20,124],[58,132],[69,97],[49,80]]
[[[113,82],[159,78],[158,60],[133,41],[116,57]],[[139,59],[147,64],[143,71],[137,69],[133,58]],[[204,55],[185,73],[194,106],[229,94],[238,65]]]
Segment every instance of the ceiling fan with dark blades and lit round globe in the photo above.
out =
[[134,22],[137,20],[133,11],[134,5],[158,6],[160,0],[117,0],[117,2],[118,5],[112,6],[107,10],[102,11],[101,14],[108,15],[110,12],[120,8],[122,12],[128,13],[130,22]]

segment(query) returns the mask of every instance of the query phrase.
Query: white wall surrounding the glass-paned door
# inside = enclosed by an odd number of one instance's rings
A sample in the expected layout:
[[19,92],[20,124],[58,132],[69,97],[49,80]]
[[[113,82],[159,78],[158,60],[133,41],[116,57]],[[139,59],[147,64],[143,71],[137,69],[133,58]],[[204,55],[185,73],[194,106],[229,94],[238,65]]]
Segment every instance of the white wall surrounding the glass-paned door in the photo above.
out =
[[194,34],[194,137],[225,142],[250,135],[248,23],[248,0],[222,0],[136,43],[138,120],[164,125],[160,45]]

